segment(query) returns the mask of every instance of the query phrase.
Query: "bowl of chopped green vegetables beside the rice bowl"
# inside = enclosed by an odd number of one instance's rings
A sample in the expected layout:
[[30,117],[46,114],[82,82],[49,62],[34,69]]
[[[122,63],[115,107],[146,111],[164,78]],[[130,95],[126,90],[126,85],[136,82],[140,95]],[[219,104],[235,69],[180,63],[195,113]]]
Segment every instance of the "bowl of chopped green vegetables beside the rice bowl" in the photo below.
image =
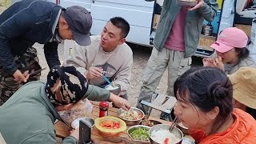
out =
[[150,126],[135,125],[127,130],[129,137],[137,143],[150,143]]

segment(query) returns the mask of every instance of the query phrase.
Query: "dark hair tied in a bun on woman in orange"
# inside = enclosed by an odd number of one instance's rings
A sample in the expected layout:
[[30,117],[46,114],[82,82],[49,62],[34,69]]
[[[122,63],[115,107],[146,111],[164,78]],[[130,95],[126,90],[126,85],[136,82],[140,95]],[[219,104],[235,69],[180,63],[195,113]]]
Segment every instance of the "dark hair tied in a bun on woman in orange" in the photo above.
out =
[[203,112],[219,108],[219,114],[210,134],[214,134],[233,111],[233,86],[225,72],[214,67],[202,66],[187,70],[174,82],[174,95],[190,102]]

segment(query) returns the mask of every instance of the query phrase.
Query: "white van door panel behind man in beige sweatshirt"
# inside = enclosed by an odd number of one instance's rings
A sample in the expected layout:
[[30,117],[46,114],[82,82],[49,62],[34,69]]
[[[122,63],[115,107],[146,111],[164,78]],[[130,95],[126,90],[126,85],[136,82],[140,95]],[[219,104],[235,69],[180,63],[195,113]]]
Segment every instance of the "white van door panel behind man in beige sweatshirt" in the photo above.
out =
[[150,45],[154,2],[145,0],[94,0],[91,5],[93,26],[91,34],[101,34],[106,22],[113,17],[125,18],[130,23],[128,42]]

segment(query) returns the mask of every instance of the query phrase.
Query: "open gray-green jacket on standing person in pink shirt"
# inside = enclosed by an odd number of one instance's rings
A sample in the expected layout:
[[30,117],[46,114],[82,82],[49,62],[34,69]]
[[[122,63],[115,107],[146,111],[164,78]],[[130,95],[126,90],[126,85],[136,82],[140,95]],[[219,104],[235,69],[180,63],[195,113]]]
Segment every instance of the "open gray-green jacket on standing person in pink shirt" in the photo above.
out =
[[[154,1],[154,0],[146,0]],[[154,36],[154,47],[159,51],[162,50],[166,39],[170,34],[171,27],[178,15],[181,6],[176,4],[176,0],[165,0],[162,6],[161,17],[158,23],[158,29]],[[206,19],[212,22],[217,14],[217,0],[204,0],[202,7],[198,10],[187,11],[185,25],[185,57],[194,55],[198,48],[198,41],[202,31],[202,22]]]

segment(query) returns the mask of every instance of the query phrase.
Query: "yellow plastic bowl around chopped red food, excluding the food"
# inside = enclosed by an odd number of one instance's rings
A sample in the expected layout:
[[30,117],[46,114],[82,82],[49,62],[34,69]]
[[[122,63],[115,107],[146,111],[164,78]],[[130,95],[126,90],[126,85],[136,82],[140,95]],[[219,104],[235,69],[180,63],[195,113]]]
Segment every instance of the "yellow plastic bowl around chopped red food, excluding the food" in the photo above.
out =
[[[111,120],[115,122],[120,122],[120,128],[118,129],[106,129],[100,126],[100,124],[104,121]],[[122,131],[126,130],[126,122],[124,122],[120,118],[112,117],[112,116],[106,116],[102,118],[96,118],[95,119],[95,127],[105,136],[118,136]]]

